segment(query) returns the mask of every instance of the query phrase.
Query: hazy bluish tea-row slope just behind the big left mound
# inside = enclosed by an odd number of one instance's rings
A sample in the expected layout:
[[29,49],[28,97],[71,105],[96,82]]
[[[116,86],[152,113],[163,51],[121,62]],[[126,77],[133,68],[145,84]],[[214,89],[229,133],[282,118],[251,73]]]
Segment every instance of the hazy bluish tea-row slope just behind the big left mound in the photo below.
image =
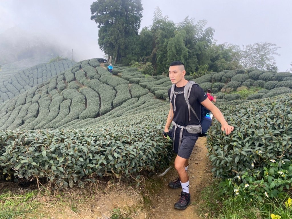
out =
[[[9,100],[55,75],[72,67],[76,62],[63,60],[39,64],[22,70],[3,81],[0,81],[0,103]],[[2,74],[1,74],[2,75]]]

